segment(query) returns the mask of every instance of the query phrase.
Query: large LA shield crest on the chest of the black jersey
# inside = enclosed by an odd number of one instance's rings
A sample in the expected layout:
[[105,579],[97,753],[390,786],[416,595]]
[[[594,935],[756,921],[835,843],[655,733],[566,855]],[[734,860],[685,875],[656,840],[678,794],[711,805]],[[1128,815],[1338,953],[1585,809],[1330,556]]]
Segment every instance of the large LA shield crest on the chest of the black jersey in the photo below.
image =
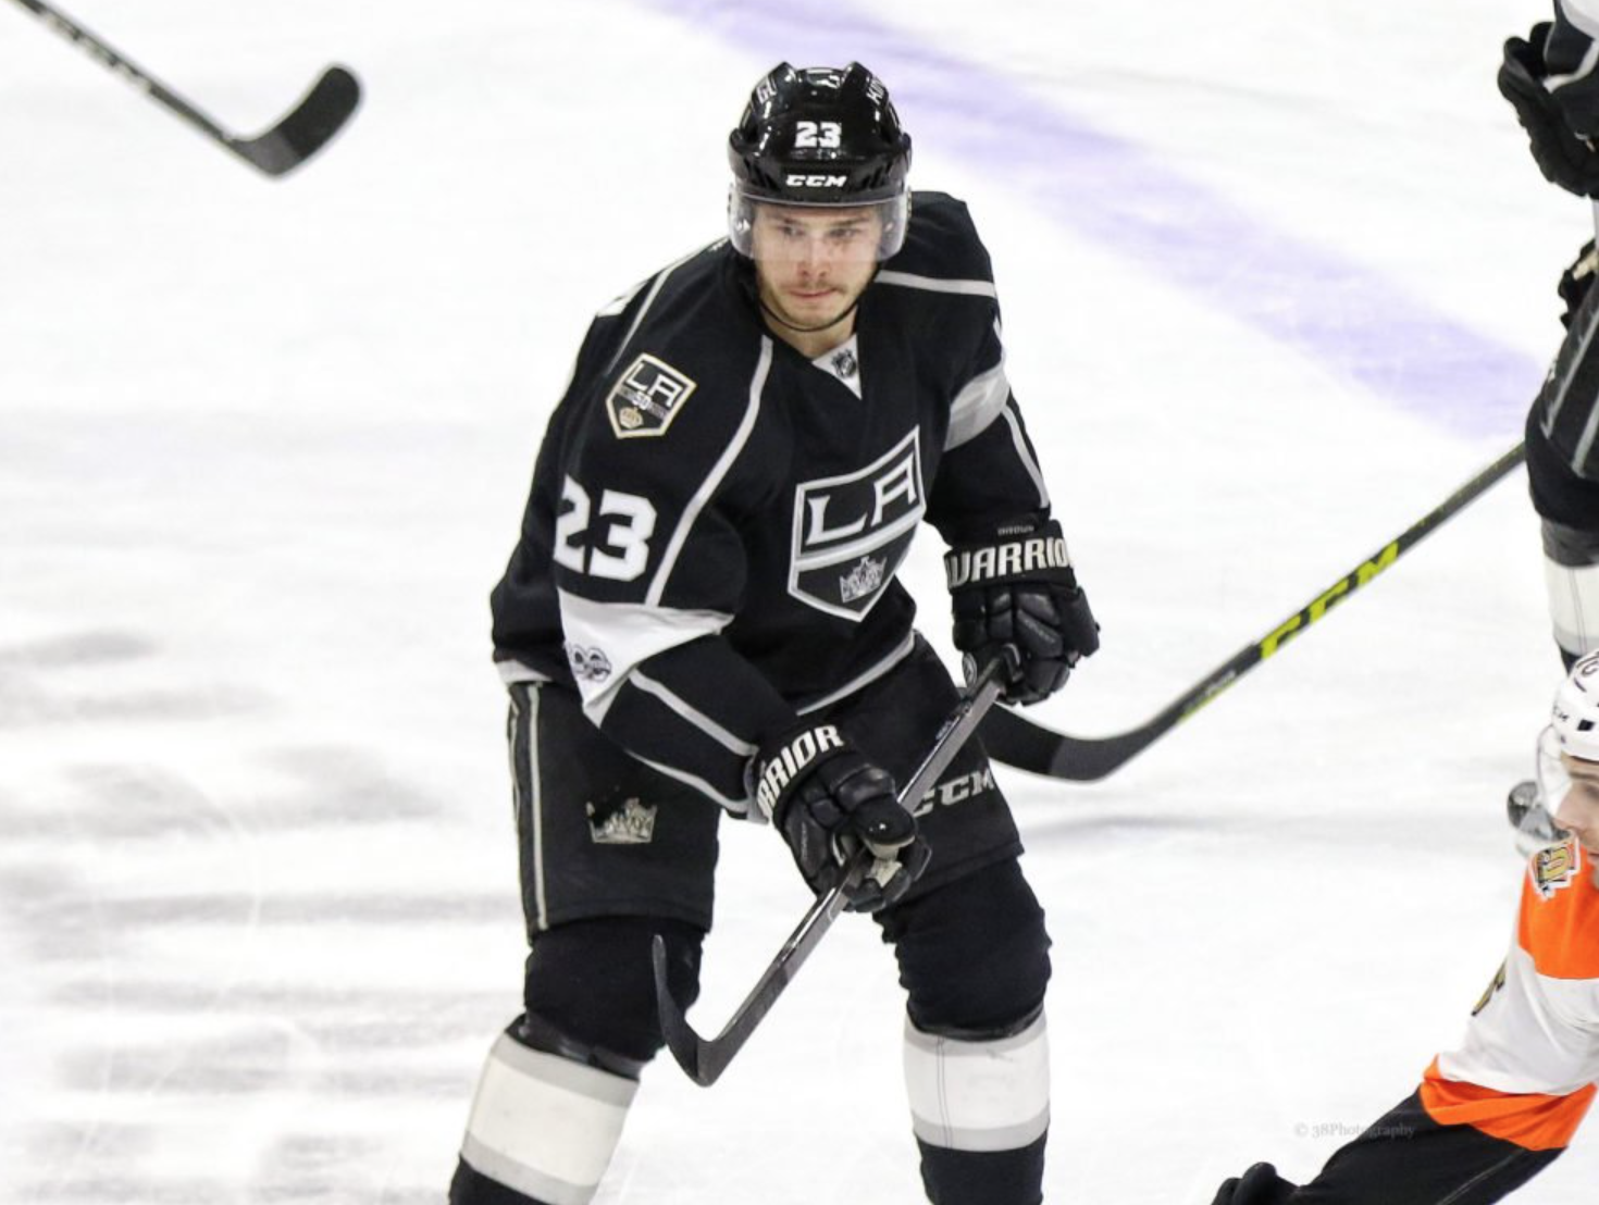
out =
[[926,510],[919,428],[865,468],[800,483],[788,593],[860,620],[905,559]]

